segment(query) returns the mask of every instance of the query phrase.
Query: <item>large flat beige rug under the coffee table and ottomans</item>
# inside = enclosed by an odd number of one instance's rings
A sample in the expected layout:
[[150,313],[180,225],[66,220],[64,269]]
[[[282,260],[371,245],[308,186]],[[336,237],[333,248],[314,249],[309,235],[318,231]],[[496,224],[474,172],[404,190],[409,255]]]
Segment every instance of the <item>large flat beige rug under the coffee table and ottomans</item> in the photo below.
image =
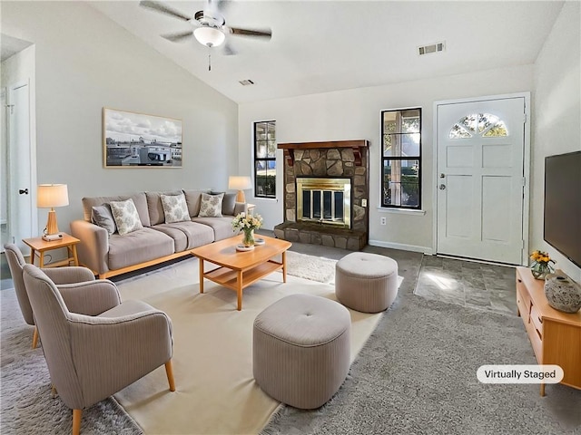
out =
[[[334,299],[334,287],[271,274],[244,290],[242,311],[235,292],[207,281],[199,294],[197,259],[118,284],[123,300],[141,299],[163,310],[173,323],[175,392],[163,367],[115,394],[147,434],[255,434],[280,405],[252,377],[252,323],[285,295]],[[351,360],[381,314],[351,311]]]

